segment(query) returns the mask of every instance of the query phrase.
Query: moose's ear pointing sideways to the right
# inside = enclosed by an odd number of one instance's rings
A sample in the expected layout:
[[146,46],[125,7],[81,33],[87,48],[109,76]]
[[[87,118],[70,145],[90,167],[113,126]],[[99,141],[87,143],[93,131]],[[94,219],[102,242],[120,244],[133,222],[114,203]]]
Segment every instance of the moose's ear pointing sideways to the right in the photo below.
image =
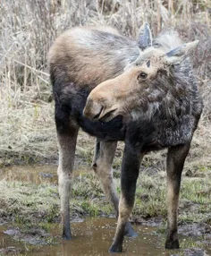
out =
[[198,45],[198,40],[183,44],[180,47],[176,47],[173,50],[165,53],[165,57],[168,63],[170,64],[179,64],[187,56],[190,55],[190,51],[193,50]]

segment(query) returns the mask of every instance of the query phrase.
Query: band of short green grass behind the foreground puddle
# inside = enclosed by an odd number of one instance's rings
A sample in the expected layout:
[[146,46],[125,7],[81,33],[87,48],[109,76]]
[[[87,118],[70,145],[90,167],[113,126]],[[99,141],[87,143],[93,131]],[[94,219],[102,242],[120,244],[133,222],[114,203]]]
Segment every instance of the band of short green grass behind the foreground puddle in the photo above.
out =
[[[120,193],[120,179],[115,178]],[[110,215],[114,213],[105,198],[97,177],[81,171],[72,181],[72,216]],[[210,217],[210,179],[183,177],[181,183],[180,223],[203,221]],[[52,223],[59,218],[59,196],[57,185],[51,183],[33,184],[26,182],[0,182],[0,216],[13,219],[16,223],[37,221]],[[191,210],[192,209],[192,210]],[[143,218],[166,218],[165,172],[149,176],[141,172],[137,184],[133,215]]]

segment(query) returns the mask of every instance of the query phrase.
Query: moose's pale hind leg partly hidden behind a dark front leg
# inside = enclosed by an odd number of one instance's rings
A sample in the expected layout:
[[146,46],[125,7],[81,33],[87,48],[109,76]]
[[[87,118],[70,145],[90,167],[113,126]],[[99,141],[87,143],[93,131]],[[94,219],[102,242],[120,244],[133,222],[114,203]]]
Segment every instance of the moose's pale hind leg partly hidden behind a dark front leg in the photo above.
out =
[[[95,147],[95,155],[92,162],[92,167],[99,177],[104,192],[113,205],[116,217],[119,212],[119,199],[114,187],[114,179],[112,173],[112,163],[114,160],[114,154],[116,150],[116,141],[97,141]],[[137,233],[132,228],[130,222],[127,222],[125,226],[125,235],[129,237],[136,237]]]

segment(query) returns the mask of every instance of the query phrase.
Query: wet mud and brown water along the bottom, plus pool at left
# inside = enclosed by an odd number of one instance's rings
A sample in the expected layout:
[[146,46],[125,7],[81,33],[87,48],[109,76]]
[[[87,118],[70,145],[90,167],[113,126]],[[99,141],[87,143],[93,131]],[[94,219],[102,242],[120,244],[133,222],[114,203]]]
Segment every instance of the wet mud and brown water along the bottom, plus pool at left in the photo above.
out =
[[[75,175],[78,174],[79,172],[75,172]],[[8,181],[57,185],[56,166],[10,166],[1,170],[1,178]],[[61,239],[59,223],[48,223],[47,230],[41,225],[27,227],[24,223],[0,223],[0,255],[117,255],[107,252],[114,238],[115,218],[73,219],[71,241]],[[211,226],[208,221],[179,226],[181,250],[175,251],[164,249],[165,232],[161,231],[163,218],[133,218],[132,224],[139,236],[135,239],[125,239],[123,252],[120,254],[122,256],[211,255]]]

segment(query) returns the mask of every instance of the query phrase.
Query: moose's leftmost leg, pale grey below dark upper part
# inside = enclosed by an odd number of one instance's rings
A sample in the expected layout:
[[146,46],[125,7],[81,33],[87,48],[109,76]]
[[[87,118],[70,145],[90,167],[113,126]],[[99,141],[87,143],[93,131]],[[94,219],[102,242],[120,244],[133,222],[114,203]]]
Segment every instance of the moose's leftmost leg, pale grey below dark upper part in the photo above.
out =
[[[68,124],[66,120],[69,121]],[[63,122],[61,115],[55,115],[55,124],[59,147],[59,166],[57,174],[61,200],[63,239],[70,240],[72,238],[70,226],[70,190],[79,128],[77,124],[70,121],[69,116],[65,116],[65,121]]]

